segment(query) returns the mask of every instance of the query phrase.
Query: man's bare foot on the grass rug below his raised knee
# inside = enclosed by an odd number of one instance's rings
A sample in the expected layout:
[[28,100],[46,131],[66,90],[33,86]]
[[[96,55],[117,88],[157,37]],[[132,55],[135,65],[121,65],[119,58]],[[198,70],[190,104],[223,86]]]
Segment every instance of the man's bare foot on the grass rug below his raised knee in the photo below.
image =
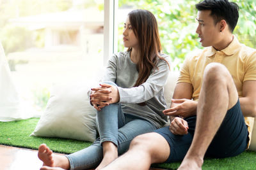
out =
[[195,159],[186,159],[185,157],[177,170],[202,170],[203,161],[198,162]]

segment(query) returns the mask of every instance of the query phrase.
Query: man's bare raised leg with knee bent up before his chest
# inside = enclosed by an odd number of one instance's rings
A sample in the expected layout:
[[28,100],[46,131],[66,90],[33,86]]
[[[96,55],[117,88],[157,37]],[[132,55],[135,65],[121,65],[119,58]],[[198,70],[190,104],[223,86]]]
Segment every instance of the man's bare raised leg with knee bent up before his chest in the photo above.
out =
[[202,169],[208,146],[223,122],[227,110],[232,108],[237,100],[236,86],[227,68],[216,63],[207,65],[197,106],[195,135],[179,170]]

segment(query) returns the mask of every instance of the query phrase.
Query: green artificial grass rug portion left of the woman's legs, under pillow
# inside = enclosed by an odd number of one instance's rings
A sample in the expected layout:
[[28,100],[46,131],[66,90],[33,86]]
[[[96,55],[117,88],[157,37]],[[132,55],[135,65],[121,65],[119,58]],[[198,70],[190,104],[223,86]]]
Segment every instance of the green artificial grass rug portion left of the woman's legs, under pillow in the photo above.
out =
[[29,136],[35,129],[39,118],[0,122],[0,144],[20,148],[38,149],[45,143],[53,152],[73,153],[90,146],[91,142],[63,138],[45,138]]

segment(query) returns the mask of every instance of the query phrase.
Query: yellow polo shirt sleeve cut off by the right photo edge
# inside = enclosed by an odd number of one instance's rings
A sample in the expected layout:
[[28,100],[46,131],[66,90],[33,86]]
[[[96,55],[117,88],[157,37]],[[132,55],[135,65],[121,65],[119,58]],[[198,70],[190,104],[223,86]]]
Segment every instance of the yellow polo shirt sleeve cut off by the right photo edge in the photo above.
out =
[[256,80],[256,51],[246,60],[244,80]]

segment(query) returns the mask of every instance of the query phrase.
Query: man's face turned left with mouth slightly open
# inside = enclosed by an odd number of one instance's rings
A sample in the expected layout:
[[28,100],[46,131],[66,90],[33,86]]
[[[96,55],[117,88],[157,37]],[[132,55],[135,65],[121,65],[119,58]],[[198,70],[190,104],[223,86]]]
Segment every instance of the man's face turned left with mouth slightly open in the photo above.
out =
[[200,38],[202,46],[216,46],[221,41],[220,36],[220,22],[216,25],[210,10],[198,11],[197,18],[198,27],[196,33]]

